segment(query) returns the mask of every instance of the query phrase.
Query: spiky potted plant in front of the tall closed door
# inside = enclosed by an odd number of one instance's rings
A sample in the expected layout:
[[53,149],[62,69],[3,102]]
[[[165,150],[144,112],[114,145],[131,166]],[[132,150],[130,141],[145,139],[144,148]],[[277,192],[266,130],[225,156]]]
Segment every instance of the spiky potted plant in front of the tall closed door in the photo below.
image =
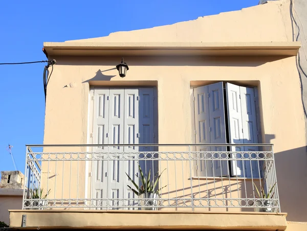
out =
[[[161,172],[161,174],[165,171],[165,169]],[[140,181],[141,186],[138,186],[138,183],[136,183],[131,177],[126,173],[127,177],[131,182],[134,184],[135,189],[131,188],[128,185],[128,188],[131,189],[136,195],[139,196],[139,198],[142,198],[144,200],[140,201],[140,204],[142,206],[142,210],[157,210],[158,209],[158,198],[161,197],[160,192],[163,188],[158,188],[159,179],[161,177],[161,174],[158,175],[158,173],[153,177],[152,181],[150,180],[151,176],[151,170],[149,169],[147,176],[144,176],[144,173],[139,165],[139,172],[140,172]],[[137,175],[136,175],[137,176]],[[145,207],[150,206],[150,207]]]

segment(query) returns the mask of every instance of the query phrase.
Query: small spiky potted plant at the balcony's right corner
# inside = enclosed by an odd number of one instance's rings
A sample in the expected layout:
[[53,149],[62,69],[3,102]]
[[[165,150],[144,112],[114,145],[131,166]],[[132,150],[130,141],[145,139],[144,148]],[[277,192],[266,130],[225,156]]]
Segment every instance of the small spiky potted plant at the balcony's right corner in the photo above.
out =
[[259,200],[255,201],[256,206],[262,206],[262,207],[255,207],[255,212],[275,212],[274,209],[274,201],[270,200],[273,198],[275,192],[272,193],[275,185],[277,182],[274,183],[274,185],[269,190],[269,193],[265,192],[265,189],[263,187],[260,188],[260,192],[258,188],[256,187],[256,184],[254,183],[254,186],[256,188],[257,194],[254,194],[255,197]]

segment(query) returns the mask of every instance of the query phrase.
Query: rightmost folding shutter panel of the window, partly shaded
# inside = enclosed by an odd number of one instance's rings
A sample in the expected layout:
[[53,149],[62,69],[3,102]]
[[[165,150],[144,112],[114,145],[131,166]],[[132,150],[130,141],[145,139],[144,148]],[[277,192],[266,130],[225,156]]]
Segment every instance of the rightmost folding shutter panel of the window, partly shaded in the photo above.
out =
[[[240,86],[241,95],[241,108],[242,108],[242,123],[243,123],[243,141],[244,144],[257,144],[257,119],[256,119],[256,105],[255,105],[255,94],[253,87],[242,87]],[[256,146],[245,146],[244,151],[253,152],[259,151]],[[255,157],[255,154],[251,154]],[[248,157],[249,154],[245,153]],[[258,161],[251,160],[245,161],[246,177],[259,177]]]

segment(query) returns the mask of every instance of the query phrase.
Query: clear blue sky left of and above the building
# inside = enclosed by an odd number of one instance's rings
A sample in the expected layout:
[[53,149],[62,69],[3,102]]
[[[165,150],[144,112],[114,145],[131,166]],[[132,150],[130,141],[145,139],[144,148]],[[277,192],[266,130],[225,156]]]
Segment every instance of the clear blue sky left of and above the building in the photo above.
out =
[[[255,6],[258,0],[1,1],[0,63],[46,60],[44,41],[107,36]],[[45,64],[0,65],[0,171],[24,172],[26,144],[42,144]]]

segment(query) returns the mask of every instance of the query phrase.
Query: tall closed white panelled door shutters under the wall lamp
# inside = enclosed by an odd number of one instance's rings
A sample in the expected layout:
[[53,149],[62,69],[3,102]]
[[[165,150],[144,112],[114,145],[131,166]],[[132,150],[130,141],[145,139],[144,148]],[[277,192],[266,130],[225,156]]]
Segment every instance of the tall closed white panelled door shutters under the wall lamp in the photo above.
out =
[[[132,187],[132,183],[125,173],[138,182],[138,161],[128,159],[136,157],[134,152],[138,152],[139,148],[133,145],[123,148],[116,144],[153,144],[153,108],[153,88],[94,89],[94,143],[114,146],[96,150],[111,153],[112,159],[93,163],[93,198],[135,197],[127,187]],[[103,129],[100,129],[102,126]],[[143,151],[151,151],[151,148],[144,147]],[[123,155],[126,158],[122,158]],[[151,167],[153,169],[154,163],[146,162],[140,164],[142,168],[147,171]],[[115,205],[122,205],[122,201],[111,207]],[[105,209],[104,204],[102,206]]]

